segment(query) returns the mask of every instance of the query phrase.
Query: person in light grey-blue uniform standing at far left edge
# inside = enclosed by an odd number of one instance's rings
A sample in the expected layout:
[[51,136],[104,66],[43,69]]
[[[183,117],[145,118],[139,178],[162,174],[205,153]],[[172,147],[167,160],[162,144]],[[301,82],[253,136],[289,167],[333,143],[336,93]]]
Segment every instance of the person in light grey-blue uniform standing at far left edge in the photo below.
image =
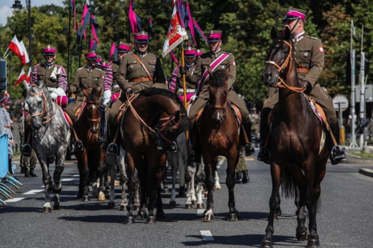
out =
[[[14,177],[11,169],[11,160],[13,158],[13,145],[14,138],[11,132],[11,119],[10,119],[10,98],[4,97],[0,100],[0,134],[8,134],[8,171]],[[16,178],[17,179],[17,178]]]

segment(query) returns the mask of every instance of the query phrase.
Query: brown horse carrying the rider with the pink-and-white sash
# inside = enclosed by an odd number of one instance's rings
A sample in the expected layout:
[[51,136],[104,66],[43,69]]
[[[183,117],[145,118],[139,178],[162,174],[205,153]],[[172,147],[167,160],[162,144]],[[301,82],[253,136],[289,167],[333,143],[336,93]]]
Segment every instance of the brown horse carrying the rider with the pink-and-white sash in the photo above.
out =
[[239,160],[241,142],[236,117],[232,108],[228,106],[230,104],[228,102],[229,90],[227,86],[229,69],[226,71],[217,70],[212,73],[211,68],[208,68],[208,73],[210,80],[207,85],[210,88],[210,97],[197,125],[199,145],[204,162],[205,185],[208,190],[204,221],[210,222],[214,219],[212,213],[214,208],[212,192],[215,185],[214,173],[218,156],[227,158],[228,221],[236,221],[239,215],[234,200],[234,169]]

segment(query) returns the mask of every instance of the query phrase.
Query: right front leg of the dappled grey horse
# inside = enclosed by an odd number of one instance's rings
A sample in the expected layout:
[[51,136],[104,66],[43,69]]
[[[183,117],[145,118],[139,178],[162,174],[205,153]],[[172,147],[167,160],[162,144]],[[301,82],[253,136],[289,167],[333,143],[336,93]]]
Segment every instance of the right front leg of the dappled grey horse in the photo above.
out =
[[61,185],[61,174],[64,171],[65,165],[65,157],[66,157],[66,146],[62,145],[57,151],[56,154],[56,168],[54,170],[53,174],[53,192],[54,192],[54,205],[53,209],[54,210],[61,210],[61,205],[60,205],[60,192],[62,189]]

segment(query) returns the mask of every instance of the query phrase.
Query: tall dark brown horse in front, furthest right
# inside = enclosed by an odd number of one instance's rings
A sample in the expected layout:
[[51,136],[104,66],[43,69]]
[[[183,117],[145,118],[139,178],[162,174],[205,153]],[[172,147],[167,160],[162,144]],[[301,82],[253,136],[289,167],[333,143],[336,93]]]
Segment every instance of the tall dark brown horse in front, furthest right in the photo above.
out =
[[[320,197],[320,183],[325,176],[328,153],[325,146],[320,149],[323,125],[315,117],[308,100],[299,87],[293,46],[288,28],[278,36],[272,28],[273,44],[269,49],[263,69],[263,81],[267,86],[279,87],[278,110],[274,113],[269,134],[271,151],[272,194],[270,215],[262,248],[271,248],[274,233],[274,217],[280,206],[279,188],[285,196],[292,196],[294,186],[299,189],[299,211],[296,238],[308,239],[307,247],[319,246],[316,213]],[[304,207],[308,209],[309,235],[305,227]]]

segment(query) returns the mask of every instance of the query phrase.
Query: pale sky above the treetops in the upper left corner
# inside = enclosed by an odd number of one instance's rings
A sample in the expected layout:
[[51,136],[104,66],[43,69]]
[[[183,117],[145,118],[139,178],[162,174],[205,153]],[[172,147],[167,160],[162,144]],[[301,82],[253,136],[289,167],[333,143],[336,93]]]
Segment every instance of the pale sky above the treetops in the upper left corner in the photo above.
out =
[[[22,7],[26,7],[26,0],[20,0]],[[0,24],[6,24],[6,17],[11,16],[13,14],[13,9],[11,6],[13,5],[14,0],[0,0]],[[31,6],[41,6],[45,4],[56,4],[56,5],[63,5],[63,0],[31,0]]]

